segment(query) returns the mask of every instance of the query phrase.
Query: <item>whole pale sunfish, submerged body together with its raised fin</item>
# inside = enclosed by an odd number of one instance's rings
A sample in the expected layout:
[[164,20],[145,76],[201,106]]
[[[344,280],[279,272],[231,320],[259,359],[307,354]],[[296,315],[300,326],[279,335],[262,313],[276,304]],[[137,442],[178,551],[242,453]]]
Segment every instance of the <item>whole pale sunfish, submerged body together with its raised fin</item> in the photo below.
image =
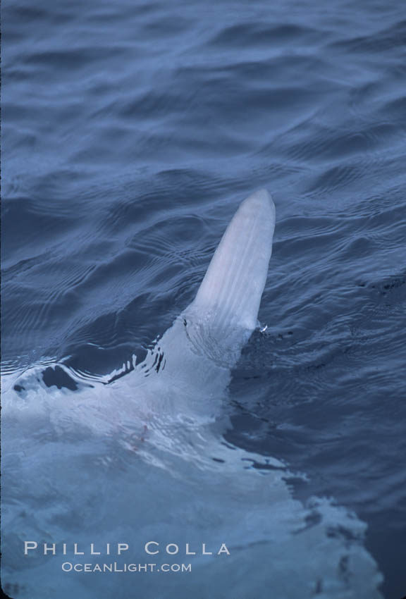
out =
[[[268,192],[242,202],[195,300],[125,376],[77,378],[71,394],[38,367],[5,381],[2,579],[13,597],[381,599],[365,525],[326,499],[302,505],[285,464],[223,439],[221,400],[257,326],[274,225]],[[25,556],[23,541],[55,543],[56,555]],[[150,541],[159,553],[144,552]],[[120,558],[99,549],[118,542],[130,548]],[[63,571],[76,562],[118,572]],[[164,573],[173,563],[191,569]]]

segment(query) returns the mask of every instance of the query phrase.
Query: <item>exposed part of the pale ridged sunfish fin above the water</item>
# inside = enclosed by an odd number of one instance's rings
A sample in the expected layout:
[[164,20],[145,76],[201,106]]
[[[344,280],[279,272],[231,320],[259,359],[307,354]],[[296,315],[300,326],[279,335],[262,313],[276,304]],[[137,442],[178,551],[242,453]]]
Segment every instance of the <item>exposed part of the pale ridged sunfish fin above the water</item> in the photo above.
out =
[[214,253],[190,304],[211,326],[253,331],[266,283],[275,228],[275,205],[259,190],[245,199]]

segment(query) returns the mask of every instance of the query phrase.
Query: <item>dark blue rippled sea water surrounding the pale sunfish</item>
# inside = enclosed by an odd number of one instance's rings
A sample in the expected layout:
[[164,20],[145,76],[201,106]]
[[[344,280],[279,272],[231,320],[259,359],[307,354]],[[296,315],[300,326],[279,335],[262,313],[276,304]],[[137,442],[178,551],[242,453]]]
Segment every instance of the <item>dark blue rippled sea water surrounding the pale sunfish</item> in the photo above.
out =
[[[192,300],[238,203],[276,234],[226,440],[366,521],[406,594],[399,1],[3,5],[5,373],[109,373]],[[282,598],[281,598],[282,599]]]

